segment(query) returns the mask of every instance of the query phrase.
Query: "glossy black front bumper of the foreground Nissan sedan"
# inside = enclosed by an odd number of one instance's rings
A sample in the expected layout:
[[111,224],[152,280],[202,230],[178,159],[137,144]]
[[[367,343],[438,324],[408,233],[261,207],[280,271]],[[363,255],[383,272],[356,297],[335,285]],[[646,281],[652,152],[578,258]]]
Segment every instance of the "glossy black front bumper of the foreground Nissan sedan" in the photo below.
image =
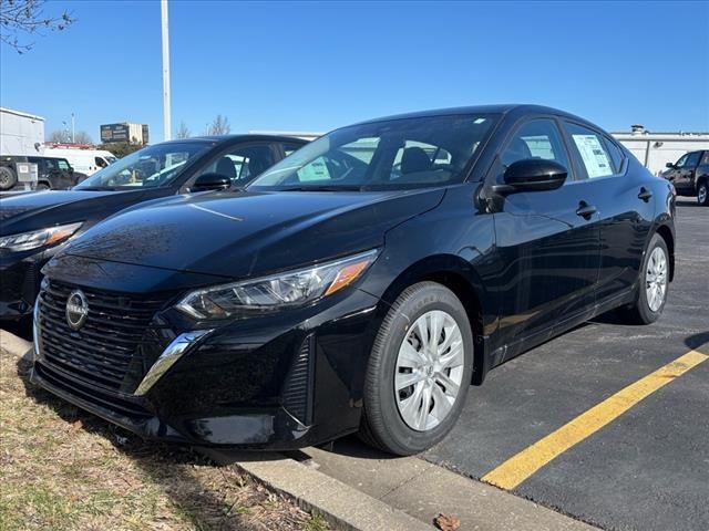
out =
[[[378,329],[379,300],[348,291],[327,304],[215,327],[145,385],[186,325],[179,312],[160,312],[134,355],[141,363],[112,389],[45,348],[40,325],[31,379],[150,439],[280,450],[331,440],[359,428]],[[81,331],[66,341],[80,339]]]

